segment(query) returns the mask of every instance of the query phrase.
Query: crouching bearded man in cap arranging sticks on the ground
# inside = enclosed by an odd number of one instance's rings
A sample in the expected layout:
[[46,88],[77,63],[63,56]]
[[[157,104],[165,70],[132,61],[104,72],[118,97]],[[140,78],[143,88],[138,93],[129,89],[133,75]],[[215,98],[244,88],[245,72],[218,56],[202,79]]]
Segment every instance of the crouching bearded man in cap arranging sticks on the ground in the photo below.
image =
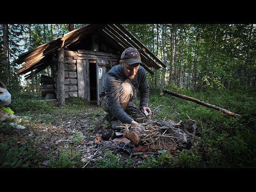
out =
[[[121,55],[120,65],[111,68],[100,93],[100,105],[103,110],[116,117],[122,123],[139,125],[139,120],[131,118],[127,113],[145,119],[145,114],[151,115],[148,107],[149,85],[146,71],[140,66],[141,57],[137,49],[129,47]],[[140,106],[133,101],[136,99],[137,89],[140,91]],[[128,112],[127,112],[128,111]],[[126,113],[127,112],[127,113]],[[140,114],[140,115],[139,115]],[[140,119],[141,119],[140,118]]]

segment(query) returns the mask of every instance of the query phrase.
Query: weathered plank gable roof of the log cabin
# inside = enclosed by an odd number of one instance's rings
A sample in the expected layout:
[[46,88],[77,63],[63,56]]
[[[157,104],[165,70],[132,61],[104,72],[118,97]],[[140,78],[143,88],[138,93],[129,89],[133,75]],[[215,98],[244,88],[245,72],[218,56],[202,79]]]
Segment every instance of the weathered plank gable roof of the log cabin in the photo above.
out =
[[61,46],[63,40],[65,40],[63,47],[73,46],[75,44],[79,46],[80,42],[83,42],[84,39],[90,37],[95,31],[98,31],[99,37],[104,43],[111,46],[111,48],[120,55],[127,47],[134,47],[136,49],[144,47],[146,51],[141,53],[141,61],[142,66],[149,73],[154,74],[152,70],[153,68],[159,69],[161,67],[166,67],[163,61],[158,59],[154,53],[147,49],[145,45],[143,45],[121,24],[86,24],[69,33],[63,34],[63,36],[54,38],[48,43],[44,43],[20,54],[18,59],[14,60],[15,63],[22,64],[16,71],[17,74],[26,74],[31,71],[30,74],[25,76],[26,79],[35,75],[50,65],[53,52]]

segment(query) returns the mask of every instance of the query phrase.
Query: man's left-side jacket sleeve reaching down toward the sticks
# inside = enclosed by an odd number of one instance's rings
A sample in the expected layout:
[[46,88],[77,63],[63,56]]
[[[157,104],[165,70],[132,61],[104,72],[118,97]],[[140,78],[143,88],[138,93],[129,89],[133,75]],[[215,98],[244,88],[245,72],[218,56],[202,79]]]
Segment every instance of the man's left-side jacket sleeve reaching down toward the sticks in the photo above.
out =
[[129,115],[127,115],[127,113],[125,113],[119,101],[119,87],[122,82],[119,79],[116,79],[115,77],[109,75],[106,76],[105,81],[105,93],[110,113],[117,119],[119,119],[122,123],[130,124],[133,119]]

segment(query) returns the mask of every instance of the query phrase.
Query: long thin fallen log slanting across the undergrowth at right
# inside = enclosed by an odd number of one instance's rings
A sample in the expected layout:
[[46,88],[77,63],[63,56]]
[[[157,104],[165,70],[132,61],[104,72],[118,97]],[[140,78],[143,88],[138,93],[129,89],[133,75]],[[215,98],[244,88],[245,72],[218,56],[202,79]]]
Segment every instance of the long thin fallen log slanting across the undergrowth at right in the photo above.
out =
[[225,114],[228,114],[228,115],[231,115],[231,116],[235,116],[235,117],[241,117],[241,115],[238,115],[238,114],[235,114],[227,109],[223,109],[223,108],[220,108],[218,106],[215,106],[215,105],[211,105],[209,103],[206,103],[204,101],[200,101],[198,99],[195,99],[195,98],[192,98],[192,97],[188,97],[186,95],[183,95],[183,94],[179,94],[179,93],[174,93],[174,92],[171,92],[169,90],[166,90],[166,89],[163,89],[163,92],[164,93],[167,93],[167,94],[170,94],[170,95],[173,95],[175,97],[178,97],[178,98],[181,98],[181,99],[186,99],[186,100],[189,100],[189,101],[193,101],[193,102],[196,102],[197,104],[199,105],[202,105],[202,106],[205,106],[205,107],[209,107],[209,108],[212,108],[212,109],[215,109],[215,110],[218,110],[218,111],[221,111],[222,113],[225,113]]

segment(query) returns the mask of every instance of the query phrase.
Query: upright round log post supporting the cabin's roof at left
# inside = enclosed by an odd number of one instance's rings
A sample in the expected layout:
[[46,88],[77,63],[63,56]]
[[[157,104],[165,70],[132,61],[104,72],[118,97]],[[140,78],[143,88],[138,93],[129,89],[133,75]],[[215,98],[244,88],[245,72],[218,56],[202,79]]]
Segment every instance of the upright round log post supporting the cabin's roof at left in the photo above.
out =
[[65,105],[65,62],[64,62],[64,49],[58,49],[58,71],[57,71],[57,99],[59,105]]

